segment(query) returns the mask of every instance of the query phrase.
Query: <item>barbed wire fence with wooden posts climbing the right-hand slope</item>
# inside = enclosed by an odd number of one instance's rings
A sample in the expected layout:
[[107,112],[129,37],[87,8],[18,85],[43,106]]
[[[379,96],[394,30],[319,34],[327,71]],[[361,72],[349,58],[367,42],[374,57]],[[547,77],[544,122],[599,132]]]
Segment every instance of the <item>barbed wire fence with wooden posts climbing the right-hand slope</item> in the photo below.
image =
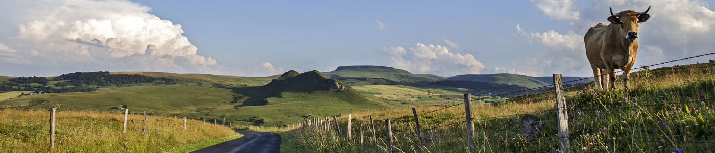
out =
[[[638,69],[647,70],[653,66],[669,64],[669,63],[672,63],[675,61],[683,61],[686,59],[693,59],[693,58],[696,58],[699,56],[706,56],[706,55],[712,55],[712,54],[715,54],[715,53],[700,54],[697,56],[690,56],[690,57],[686,57],[686,58],[682,58],[682,59],[674,59],[671,61],[664,61],[659,64],[651,64],[648,66],[641,66],[641,67],[637,67],[637,68],[633,68],[633,69],[628,69],[627,71],[638,70]],[[372,144],[373,144],[373,149],[375,150],[375,152],[378,152],[378,151],[393,152],[395,150],[404,152],[404,150],[402,150],[402,149],[408,149],[408,148],[400,149],[400,147],[395,147],[395,144],[400,145],[404,142],[408,142],[408,143],[418,145],[418,149],[411,148],[413,150],[413,152],[418,152],[418,151],[425,152],[425,150],[429,149],[427,146],[425,146],[425,143],[435,142],[435,141],[440,141],[440,139],[445,139],[445,136],[440,137],[440,134],[436,134],[436,133],[442,132],[441,134],[446,135],[446,136],[463,137],[464,135],[467,135],[466,139],[468,140],[468,142],[466,142],[466,144],[467,144],[466,146],[468,148],[468,151],[470,151],[470,152],[474,151],[476,149],[476,148],[474,148],[475,146],[473,145],[475,143],[483,144],[481,146],[482,147],[481,150],[493,151],[493,150],[490,150],[491,149],[490,145],[498,144],[499,142],[510,141],[508,139],[508,135],[506,135],[506,134],[504,137],[501,137],[499,139],[492,139],[492,138],[486,137],[487,129],[490,128],[488,126],[488,124],[490,124],[489,122],[494,119],[509,119],[508,122],[520,122],[520,121],[515,121],[514,119],[518,119],[518,117],[524,117],[526,115],[535,115],[535,116],[538,116],[537,117],[539,120],[538,123],[545,124],[545,122],[541,121],[541,118],[543,118],[544,115],[563,114],[565,117],[566,114],[569,112],[571,112],[571,113],[578,112],[580,114],[583,112],[596,111],[596,110],[598,110],[598,111],[617,111],[617,110],[622,110],[622,109],[633,109],[633,108],[642,109],[642,107],[650,107],[650,106],[689,104],[689,103],[696,103],[696,102],[711,102],[711,101],[715,100],[715,99],[700,99],[700,100],[689,101],[689,102],[663,102],[663,103],[657,103],[657,104],[642,104],[642,105],[633,104],[633,106],[615,107],[615,108],[614,107],[611,107],[611,108],[603,107],[602,109],[599,109],[599,108],[580,108],[580,109],[571,109],[571,110],[566,109],[566,103],[565,103],[566,99],[563,98],[563,90],[573,89],[575,87],[580,87],[580,86],[572,84],[569,87],[563,88],[563,86],[564,86],[563,84],[568,84],[568,83],[572,83],[572,82],[583,82],[584,80],[587,80],[587,79],[594,79],[596,77],[608,76],[611,74],[618,74],[621,72],[623,72],[623,70],[622,71],[613,71],[611,73],[606,73],[606,74],[601,74],[600,76],[591,76],[591,77],[584,77],[581,79],[573,79],[573,80],[569,80],[566,82],[561,82],[561,75],[558,75],[558,80],[556,79],[556,77],[554,78],[554,81],[555,81],[554,84],[546,84],[546,85],[539,86],[539,87],[533,87],[533,88],[518,90],[518,91],[514,91],[514,92],[508,92],[505,94],[493,95],[493,96],[483,96],[483,97],[479,97],[479,98],[475,98],[475,99],[470,98],[470,96],[471,96],[470,94],[465,94],[464,99],[463,99],[464,102],[460,102],[457,104],[450,104],[448,106],[439,107],[437,109],[429,109],[428,111],[421,112],[421,113],[417,113],[415,111],[415,108],[413,108],[413,115],[406,114],[405,116],[401,116],[401,117],[393,117],[393,118],[388,118],[388,119],[374,119],[374,120],[373,120],[373,117],[370,115],[369,116],[370,117],[369,124],[367,126],[368,128],[364,128],[364,126],[363,126],[363,122],[367,122],[367,121],[360,121],[361,122],[361,124],[359,125],[360,126],[359,129],[360,129],[360,133],[361,133],[360,147],[363,147],[363,145],[368,144],[369,142],[373,142]],[[612,80],[612,81],[615,81],[615,80]],[[555,84],[558,84],[558,87]],[[541,89],[546,89],[546,90],[541,90]],[[459,110],[455,107],[460,106],[460,105],[465,105],[464,112],[470,112],[469,111],[470,107],[473,107],[472,104],[469,104],[470,102],[475,102],[475,101],[480,101],[480,100],[485,100],[485,99],[501,98],[501,97],[505,97],[508,95],[519,94],[519,93],[527,94],[528,92],[531,92],[531,91],[538,92],[539,90],[542,91],[541,93],[561,92],[561,96],[562,96],[561,99],[564,102],[563,107],[557,106],[557,107],[554,107],[553,109],[546,109],[546,110],[542,110],[541,112],[535,112],[535,113],[508,114],[508,115],[503,115],[503,116],[498,116],[498,117],[485,117],[485,118],[478,118],[478,119],[475,119],[473,117],[473,113],[470,113],[468,115],[465,114],[465,118],[463,118],[463,119],[441,119],[440,121],[443,121],[443,122],[429,122],[429,123],[422,122],[422,123],[420,123],[420,120],[419,120],[420,117],[424,117],[425,115],[428,115],[428,114],[434,114],[436,112],[440,112],[445,109],[450,109],[450,111],[451,110]],[[558,94],[557,94],[557,96],[554,97],[553,100],[555,102],[558,102],[559,101],[558,99],[560,99],[560,97],[558,97]],[[480,104],[487,104],[487,103],[480,103]],[[555,104],[555,105],[558,105],[558,104]],[[350,115],[350,116],[352,116],[352,115]],[[414,119],[410,119],[410,118],[414,118]],[[351,143],[354,142],[354,141],[352,141],[353,139],[352,139],[352,134],[351,134],[352,127],[353,127],[352,121],[357,121],[356,120],[357,118],[353,119],[352,117],[350,117],[349,119],[341,119],[341,120],[347,120],[347,121],[345,121],[347,123],[343,122],[340,124],[338,123],[338,120],[335,116],[332,117],[332,120],[330,120],[330,119],[331,119],[330,117],[325,117],[325,119],[323,119],[323,117],[313,118],[313,119],[305,119],[305,120],[298,122],[297,126],[300,127],[300,128],[298,128],[300,130],[313,130],[313,131],[318,130],[320,132],[324,132],[325,134],[329,133],[331,136],[334,136],[336,140],[338,138],[345,138],[345,139],[348,139],[348,142],[351,142]],[[542,131],[541,135],[543,135],[543,137],[535,137],[535,138],[531,138],[531,139],[536,139],[538,141],[541,141],[541,140],[556,141],[558,139],[559,140],[558,144],[560,144],[562,146],[560,149],[568,152],[569,150],[571,150],[571,149],[569,149],[569,146],[568,146],[568,139],[569,139],[568,125],[560,125],[561,122],[568,123],[568,118],[563,118],[563,119],[557,118],[557,119],[558,119],[558,121],[553,121],[553,122],[559,123],[558,128],[557,128],[559,131],[558,136],[553,136],[553,135],[556,135],[556,133],[552,134],[552,133]],[[412,120],[412,121],[410,121],[410,120]],[[483,133],[483,134],[479,134],[481,136],[480,138],[476,137],[477,134],[475,134],[476,130],[474,128],[474,123],[473,123],[474,120],[477,121],[477,124],[480,125],[480,127],[479,127],[479,129],[481,129],[480,132]],[[410,123],[410,122],[412,122],[412,123]],[[398,125],[398,126],[395,126],[395,125]],[[428,126],[423,127],[424,125],[428,125]],[[495,127],[495,126],[498,126],[498,125],[494,125],[491,127]],[[506,125],[501,125],[501,126],[506,126]],[[539,126],[542,126],[542,125],[539,125]],[[551,127],[551,124],[548,124],[548,126]],[[345,127],[345,128],[340,128],[340,127]],[[397,129],[397,131],[400,132],[400,134],[394,134],[393,132],[395,132],[395,130],[392,129],[393,127],[402,128],[402,129]],[[456,131],[456,132],[451,132],[451,133],[462,132],[463,134],[447,134],[447,133],[445,133],[445,131],[450,131],[450,130],[440,130],[440,129],[444,129],[444,128],[450,128],[453,131]],[[508,128],[508,127],[503,127],[501,129],[506,130],[506,128]],[[566,131],[563,131],[564,129]],[[367,136],[368,141],[363,141],[362,133],[364,133],[364,132],[368,132],[368,133],[372,134],[372,136],[370,136],[368,134],[368,136]],[[561,134],[561,133],[566,133],[566,134]],[[408,134],[410,134],[410,136],[408,136]],[[378,139],[378,137],[377,137],[378,135],[380,135],[380,139]],[[411,137],[411,136],[414,136],[414,137]],[[522,135],[517,135],[517,137],[521,137],[521,136]],[[417,139],[418,141],[414,141],[414,139]],[[481,140],[482,142],[473,142],[475,139]],[[514,138],[511,138],[511,139],[514,139]],[[516,139],[513,141],[525,141],[524,139],[525,138],[519,138],[519,139]],[[565,144],[562,142],[564,140],[566,141]],[[649,140],[635,140],[635,139],[632,141],[633,142],[656,142],[656,143],[670,142],[670,143],[715,144],[715,142],[649,141]],[[368,143],[364,143],[364,142],[368,142]],[[355,142],[355,143],[357,143],[357,142]],[[494,143],[494,144],[490,144],[490,143]],[[563,145],[566,145],[566,146],[563,147]],[[488,146],[488,149],[487,149],[487,147],[484,147],[484,146]],[[410,147],[412,147],[412,146],[410,145]]]

